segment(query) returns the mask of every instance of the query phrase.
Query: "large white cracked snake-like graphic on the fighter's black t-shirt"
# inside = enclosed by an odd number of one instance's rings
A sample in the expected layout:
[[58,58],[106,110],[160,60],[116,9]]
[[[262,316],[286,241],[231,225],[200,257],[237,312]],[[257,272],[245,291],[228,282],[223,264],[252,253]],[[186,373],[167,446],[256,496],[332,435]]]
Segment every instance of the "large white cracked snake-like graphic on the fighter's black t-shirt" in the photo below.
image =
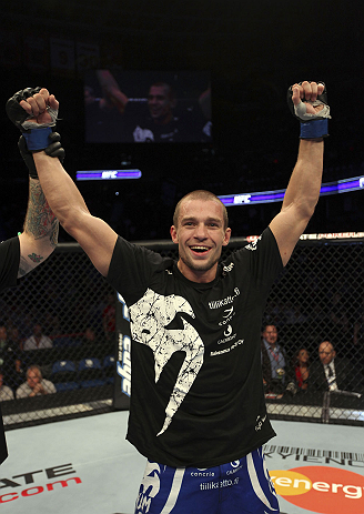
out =
[[198,331],[183,318],[183,329],[166,329],[176,313],[185,313],[195,318],[190,303],[182,296],[171,294],[163,296],[148,289],[144,295],[129,309],[131,314],[131,335],[138,343],[146,344],[154,354],[155,383],[172,354],[185,352],[185,357],[170,401],[165,407],[165,420],[161,435],[170,425],[190,391],[203,363],[204,345]]

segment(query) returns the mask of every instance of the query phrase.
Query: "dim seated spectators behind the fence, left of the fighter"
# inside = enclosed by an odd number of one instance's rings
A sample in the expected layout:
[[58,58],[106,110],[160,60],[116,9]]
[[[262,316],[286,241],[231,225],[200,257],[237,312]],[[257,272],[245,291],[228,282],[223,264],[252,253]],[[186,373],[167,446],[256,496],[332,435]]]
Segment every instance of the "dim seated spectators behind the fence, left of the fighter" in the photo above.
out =
[[[109,294],[99,305],[100,319],[93,319],[78,331],[61,332],[58,315],[47,312],[42,323],[30,314],[0,320],[0,401],[55,393],[62,387],[53,384],[59,379],[55,363],[103,362],[114,355],[115,305]],[[108,361],[109,366],[109,361]],[[59,371],[59,370],[58,370]],[[108,374],[110,371],[108,370]],[[100,373],[99,373],[100,375]],[[50,380],[49,380],[50,379]]]

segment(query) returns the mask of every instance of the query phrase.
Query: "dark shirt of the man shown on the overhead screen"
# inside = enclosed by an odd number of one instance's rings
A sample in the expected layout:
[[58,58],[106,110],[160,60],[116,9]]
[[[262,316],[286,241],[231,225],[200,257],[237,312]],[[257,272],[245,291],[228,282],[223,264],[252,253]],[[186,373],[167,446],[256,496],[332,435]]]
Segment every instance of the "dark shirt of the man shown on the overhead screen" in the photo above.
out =
[[206,142],[211,141],[210,124],[198,105],[173,112],[166,124],[158,124],[146,102],[131,102],[123,113],[125,142]]

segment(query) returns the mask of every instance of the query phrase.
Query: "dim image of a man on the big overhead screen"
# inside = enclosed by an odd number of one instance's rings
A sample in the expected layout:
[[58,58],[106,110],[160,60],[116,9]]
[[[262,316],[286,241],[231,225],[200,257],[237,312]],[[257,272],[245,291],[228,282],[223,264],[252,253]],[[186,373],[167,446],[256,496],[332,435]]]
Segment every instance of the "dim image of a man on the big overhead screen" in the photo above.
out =
[[[85,97],[87,139],[97,142],[95,109],[102,118],[102,141],[110,142],[208,142],[211,141],[211,94],[208,88],[194,101],[178,100],[166,81],[153,82],[146,98],[129,98],[109,70],[98,70],[102,98],[90,105]],[[120,120],[115,129],[115,113]],[[108,123],[110,117],[110,124]],[[101,129],[101,127],[100,127]],[[90,134],[90,138],[88,137]],[[100,132],[101,135],[101,132]]]

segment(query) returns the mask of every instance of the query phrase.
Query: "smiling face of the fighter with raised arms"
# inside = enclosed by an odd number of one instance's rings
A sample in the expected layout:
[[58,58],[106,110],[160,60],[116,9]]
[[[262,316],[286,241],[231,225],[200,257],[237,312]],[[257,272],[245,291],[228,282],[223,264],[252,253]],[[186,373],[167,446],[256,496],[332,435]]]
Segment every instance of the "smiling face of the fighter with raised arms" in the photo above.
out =
[[171,226],[179,245],[179,270],[193,282],[211,282],[216,275],[222,246],[231,229],[224,229],[223,209],[214,200],[185,200],[178,226]]

